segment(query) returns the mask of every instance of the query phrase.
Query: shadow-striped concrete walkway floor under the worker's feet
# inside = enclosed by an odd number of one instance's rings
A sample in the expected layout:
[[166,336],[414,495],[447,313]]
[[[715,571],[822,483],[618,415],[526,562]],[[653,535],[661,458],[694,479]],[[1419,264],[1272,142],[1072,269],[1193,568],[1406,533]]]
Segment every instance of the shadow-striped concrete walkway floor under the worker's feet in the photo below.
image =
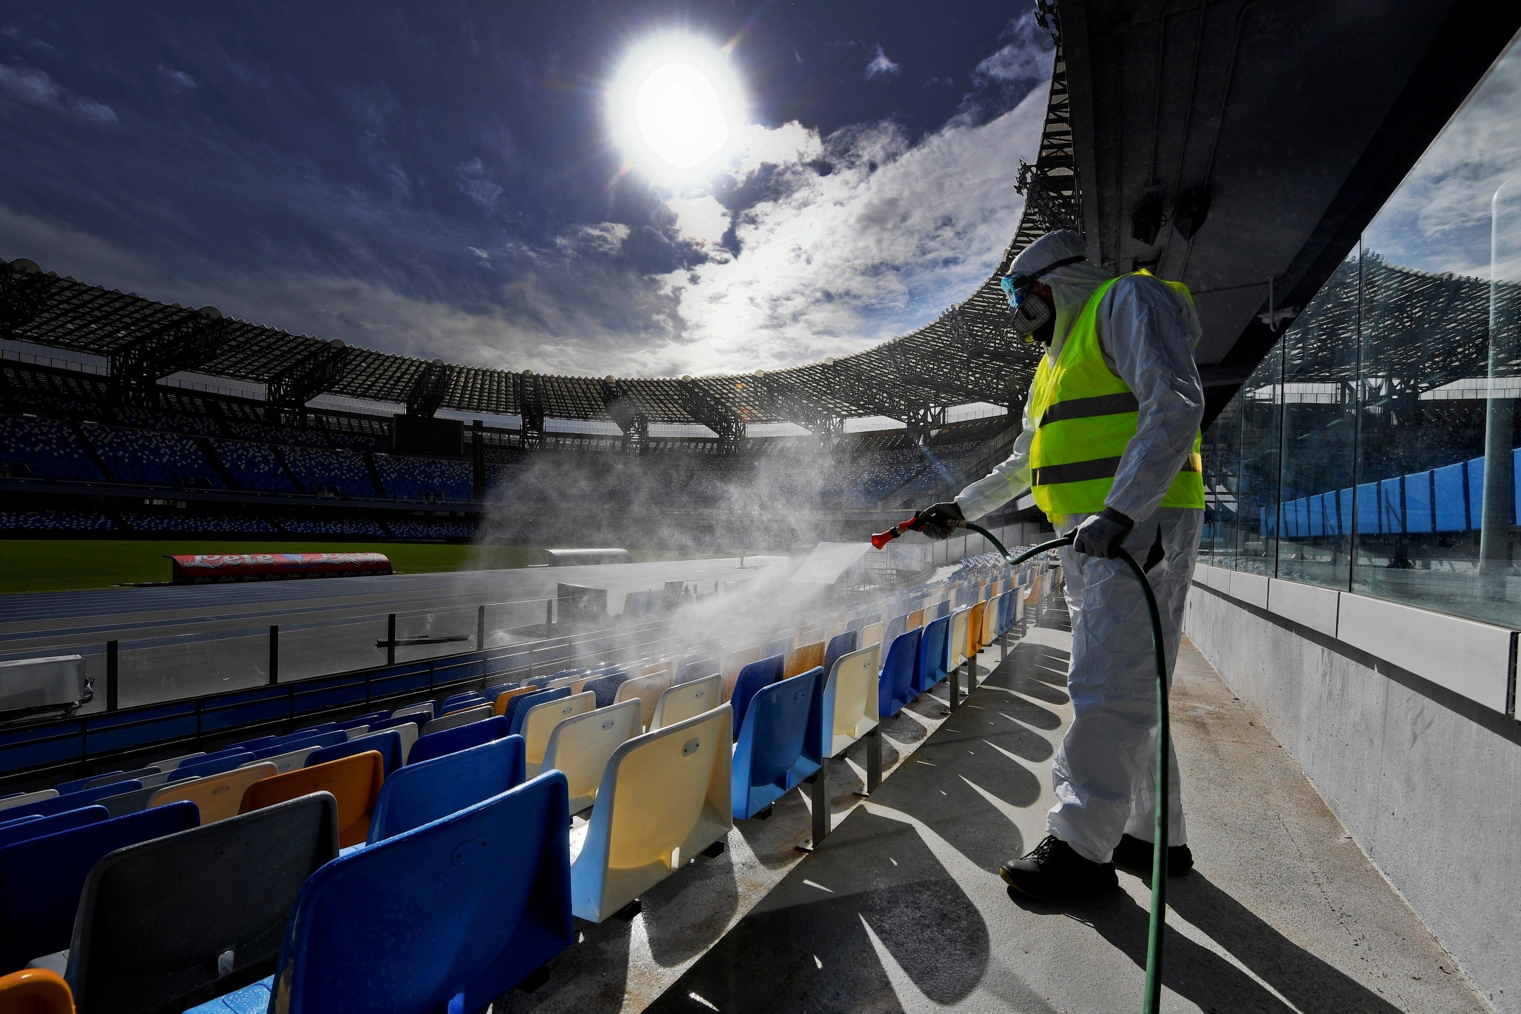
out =
[[[1045,835],[1071,718],[1065,616],[983,654],[949,719],[922,698],[887,727],[870,800],[862,743],[837,827],[803,854],[806,801],[741,821],[633,921],[586,926],[534,994],[496,1011],[1138,1011],[1150,888],[1015,900],[999,863]],[[1303,774],[1185,642],[1174,740],[1197,868],[1170,883],[1167,1011],[1484,1011]]]

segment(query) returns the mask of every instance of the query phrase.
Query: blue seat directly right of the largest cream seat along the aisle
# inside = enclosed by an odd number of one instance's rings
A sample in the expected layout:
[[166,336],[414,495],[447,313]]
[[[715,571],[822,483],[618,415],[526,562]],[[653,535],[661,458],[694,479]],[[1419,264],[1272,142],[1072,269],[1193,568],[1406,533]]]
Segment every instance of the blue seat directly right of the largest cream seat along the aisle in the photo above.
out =
[[760,687],[750,699],[733,754],[735,819],[754,816],[823,763],[824,669]]

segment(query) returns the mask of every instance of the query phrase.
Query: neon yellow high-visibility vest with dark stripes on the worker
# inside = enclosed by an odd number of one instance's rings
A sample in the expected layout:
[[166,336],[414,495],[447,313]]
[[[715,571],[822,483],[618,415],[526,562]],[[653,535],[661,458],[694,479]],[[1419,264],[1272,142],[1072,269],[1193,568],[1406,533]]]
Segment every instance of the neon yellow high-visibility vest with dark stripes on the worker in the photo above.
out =
[[[1104,362],[1098,342],[1098,306],[1116,281],[1110,278],[1088,298],[1057,362],[1042,356],[1030,385],[1030,417],[1036,426],[1030,444],[1031,493],[1036,505],[1056,524],[1068,514],[1104,509],[1121,456],[1136,435],[1141,403]],[[1182,283],[1164,284],[1192,303]],[[1205,506],[1200,444],[1196,433],[1192,453],[1161,506]]]

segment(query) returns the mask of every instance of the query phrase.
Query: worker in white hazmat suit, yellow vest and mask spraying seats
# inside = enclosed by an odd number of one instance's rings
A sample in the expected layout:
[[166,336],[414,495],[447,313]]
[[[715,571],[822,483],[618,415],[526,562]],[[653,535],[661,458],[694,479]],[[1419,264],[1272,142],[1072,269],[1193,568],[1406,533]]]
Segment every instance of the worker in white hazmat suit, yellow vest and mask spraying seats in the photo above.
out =
[[[992,474],[917,515],[945,538],[1030,490],[1074,535],[1060,550],[1074,715],[1051,772],[1057,803],[1048,836],[1001,871],[1043,900],[1116,888],[1115,865],[1151,870],[1156,657],[1141,587],[1113,556],[1122,546],[1147,567],[1171,678],[1205,517],[1192,298],[1147,272],[1115,278],[1084,254],[1081,237],[1062,230],[1015,260],[1002,280],[1015,328],[1046,345],[1024,432]],[[1170,772],[1168,862],[1183,873],[1192,854],[1176,759]]]

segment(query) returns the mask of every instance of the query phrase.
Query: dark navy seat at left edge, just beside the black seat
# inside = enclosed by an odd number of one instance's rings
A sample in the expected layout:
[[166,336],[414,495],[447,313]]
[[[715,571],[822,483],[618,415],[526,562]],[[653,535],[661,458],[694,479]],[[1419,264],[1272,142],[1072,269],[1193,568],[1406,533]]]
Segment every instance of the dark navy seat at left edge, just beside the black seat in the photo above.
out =
[[0,968],[14,971],[68,947],[79,889],[102,856],[198,822],[195,806],[181,803],[0,848]]

